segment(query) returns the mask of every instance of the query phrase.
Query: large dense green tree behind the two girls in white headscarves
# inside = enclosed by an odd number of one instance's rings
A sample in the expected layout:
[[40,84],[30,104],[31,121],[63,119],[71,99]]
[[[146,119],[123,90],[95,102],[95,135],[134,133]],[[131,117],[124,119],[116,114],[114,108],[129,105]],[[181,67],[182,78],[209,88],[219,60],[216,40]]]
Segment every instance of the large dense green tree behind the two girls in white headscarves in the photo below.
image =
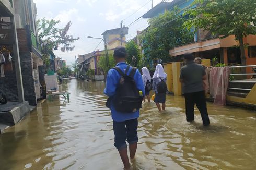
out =
[[193,33],[182,27],[185,18],[179,16],[180,10],[175,8],[148,20],[150,27],[142,36],[145,59],[167,62],[172,48],[193,42]]

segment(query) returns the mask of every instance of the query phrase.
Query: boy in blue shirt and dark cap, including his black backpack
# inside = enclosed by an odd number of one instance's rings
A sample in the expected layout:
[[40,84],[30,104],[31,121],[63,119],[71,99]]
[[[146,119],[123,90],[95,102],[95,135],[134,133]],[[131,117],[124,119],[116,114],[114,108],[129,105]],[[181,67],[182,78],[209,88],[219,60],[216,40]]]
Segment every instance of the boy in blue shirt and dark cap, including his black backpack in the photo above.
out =
[[116,67],[108,72],[104,94],[109,96],[106,106],[111,110],[114,130],[114,146],[118,149],[124,168],[130,168],[126,139],[129,143],[130,158],[137,150],[137,126],[139,108],[145,95],[142,76],[136,67],[125,63],[126,49],[118,46],[114,50]]

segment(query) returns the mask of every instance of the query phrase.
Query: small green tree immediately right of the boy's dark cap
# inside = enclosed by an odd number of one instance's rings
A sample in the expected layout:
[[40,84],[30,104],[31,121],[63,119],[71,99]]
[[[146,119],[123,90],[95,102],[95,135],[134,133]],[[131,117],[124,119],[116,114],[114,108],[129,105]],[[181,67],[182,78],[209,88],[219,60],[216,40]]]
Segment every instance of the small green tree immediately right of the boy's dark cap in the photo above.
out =
[[141,54],[139,52],[138,45],[131,40],[129,41],[129,43],[126,44],[126,51],[128,54],[126,62],[134,67],[138,67],[139,60],[141,59]]

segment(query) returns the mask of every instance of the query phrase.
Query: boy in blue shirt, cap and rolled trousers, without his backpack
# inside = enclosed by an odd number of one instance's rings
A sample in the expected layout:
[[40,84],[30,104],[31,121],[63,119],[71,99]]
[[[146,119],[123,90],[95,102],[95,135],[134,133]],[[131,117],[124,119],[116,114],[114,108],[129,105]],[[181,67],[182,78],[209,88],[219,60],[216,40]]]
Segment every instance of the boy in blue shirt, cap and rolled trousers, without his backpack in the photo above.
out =
[[[126,49],[123,46],[118,46],[114,50],[114,59],[123,72],[127,68],[127,63],[125,63]],[[132,67],[130,67],[127,75],[130,74]],[[117,90],[121,75],[115,69],[110,69],[107,76],[106,88],[104,89],[104,94],[111,97],[115,95]],[[142,81],[142,76],[138,69],[133,76],[136,87],[139,91],[142,91],[143,96],[145,95],[144,84]],[[122,113],[115,110],[113,106],[113,101],[111,102],[111,116],[113,119],[113,130],[114,130],[114,146],[118,149],[120,157],[123,161],[124,168],[130,168],[129,157],[127,154],[126,139],[129,143],[130,158],[133,159],[137,150],[137,126],[139,110],[132,113]]]

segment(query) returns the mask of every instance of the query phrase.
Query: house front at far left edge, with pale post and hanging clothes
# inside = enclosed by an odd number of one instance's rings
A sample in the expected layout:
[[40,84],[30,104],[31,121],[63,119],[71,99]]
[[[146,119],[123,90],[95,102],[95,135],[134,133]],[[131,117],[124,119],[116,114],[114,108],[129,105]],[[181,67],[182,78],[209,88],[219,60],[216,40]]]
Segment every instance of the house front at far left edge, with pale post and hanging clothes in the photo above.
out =
[[24,102],[24,79],[21,72],[14,2],[11,0],[0,1],[0,52],[13,57],[1,65],[4,72],[0,77],[0,90],[8,96],[8,100]]

